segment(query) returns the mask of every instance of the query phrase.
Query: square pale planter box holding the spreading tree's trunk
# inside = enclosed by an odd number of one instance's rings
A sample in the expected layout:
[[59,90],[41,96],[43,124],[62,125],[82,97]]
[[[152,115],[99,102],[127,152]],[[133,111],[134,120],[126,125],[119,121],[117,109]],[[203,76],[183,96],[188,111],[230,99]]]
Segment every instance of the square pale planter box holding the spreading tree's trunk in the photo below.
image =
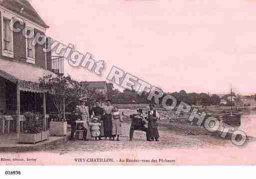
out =
[[50,122],[50,135],[51,136],[66,136],[67,135],[67,122]]

